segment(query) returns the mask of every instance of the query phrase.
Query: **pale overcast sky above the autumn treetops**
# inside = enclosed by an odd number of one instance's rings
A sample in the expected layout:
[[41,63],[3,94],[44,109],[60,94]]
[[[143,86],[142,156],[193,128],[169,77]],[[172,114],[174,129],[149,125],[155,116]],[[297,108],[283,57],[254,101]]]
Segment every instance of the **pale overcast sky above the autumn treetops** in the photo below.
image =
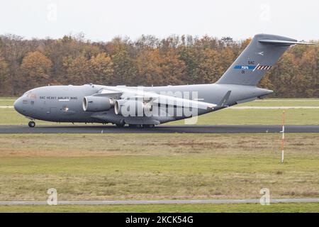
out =
[[0,20],[0,34],[25,38],[82,32],[94,41],[142,34],[319,39],[318,0],[10,0],[1,2]]

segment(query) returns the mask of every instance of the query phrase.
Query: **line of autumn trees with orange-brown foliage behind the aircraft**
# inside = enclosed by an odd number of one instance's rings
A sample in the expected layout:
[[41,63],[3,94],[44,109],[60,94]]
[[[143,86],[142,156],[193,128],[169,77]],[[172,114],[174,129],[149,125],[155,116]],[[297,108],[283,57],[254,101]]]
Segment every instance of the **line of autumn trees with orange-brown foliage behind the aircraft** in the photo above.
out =
[[[84,35],[27,40],[0,35],[0,95],[47,84],[157,86],[216,82],[250,43],[172,35],[92,42]],[[259,87],[276,97],[319,97],[319,40],[289,48]]]

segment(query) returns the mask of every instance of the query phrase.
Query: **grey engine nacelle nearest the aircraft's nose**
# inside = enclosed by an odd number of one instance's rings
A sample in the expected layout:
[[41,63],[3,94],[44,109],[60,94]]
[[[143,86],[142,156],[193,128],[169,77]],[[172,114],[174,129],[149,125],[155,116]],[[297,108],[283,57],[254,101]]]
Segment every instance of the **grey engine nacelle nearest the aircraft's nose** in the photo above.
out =
[[83,110],[88,112],[108,111],[114,106],[113,99],[102,96],[85,96]]

